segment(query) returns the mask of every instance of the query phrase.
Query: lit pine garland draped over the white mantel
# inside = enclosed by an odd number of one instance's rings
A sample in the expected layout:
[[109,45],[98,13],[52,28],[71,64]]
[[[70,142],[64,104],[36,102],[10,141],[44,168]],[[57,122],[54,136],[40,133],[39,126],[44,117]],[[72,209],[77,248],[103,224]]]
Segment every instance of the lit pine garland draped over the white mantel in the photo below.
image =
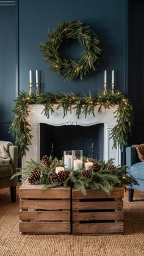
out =
[[132,104],[119,91],[115,93],[102,91],[97,95],[92,95],[89,92],[84,97],[78,97],[73,92],[62,94],[46,92],[38,96],[32,93],[30,96],[27,92],[22,91],[15,99],[15,106],[12,111],[15,117],[10,127],[10,133],[15,137],[15,144],[18,145],[21,156],[26,154],[32,139],[31,125],[27,122],[29,104],[43,104],[45,106],[43,112],[47,118],[54,113],[54,104],[57,104],[57,109],[63,108],[63,117],[67,115],[68,111],[71,112],[72,109],[76,109],[77,118],[81,114],[84,114],[85,118],[90,114],[95,116],[96,106],[98,106],[98,112],[101,112],[103,111],[102,108],[109,109],[118,105],[117,110],[113,113],[117,119],[117,124],[112,129],[111,137],[113,138],[113,147],[119,145],[121,151],[126,147],[128,134],[131,133],[134,121]]

